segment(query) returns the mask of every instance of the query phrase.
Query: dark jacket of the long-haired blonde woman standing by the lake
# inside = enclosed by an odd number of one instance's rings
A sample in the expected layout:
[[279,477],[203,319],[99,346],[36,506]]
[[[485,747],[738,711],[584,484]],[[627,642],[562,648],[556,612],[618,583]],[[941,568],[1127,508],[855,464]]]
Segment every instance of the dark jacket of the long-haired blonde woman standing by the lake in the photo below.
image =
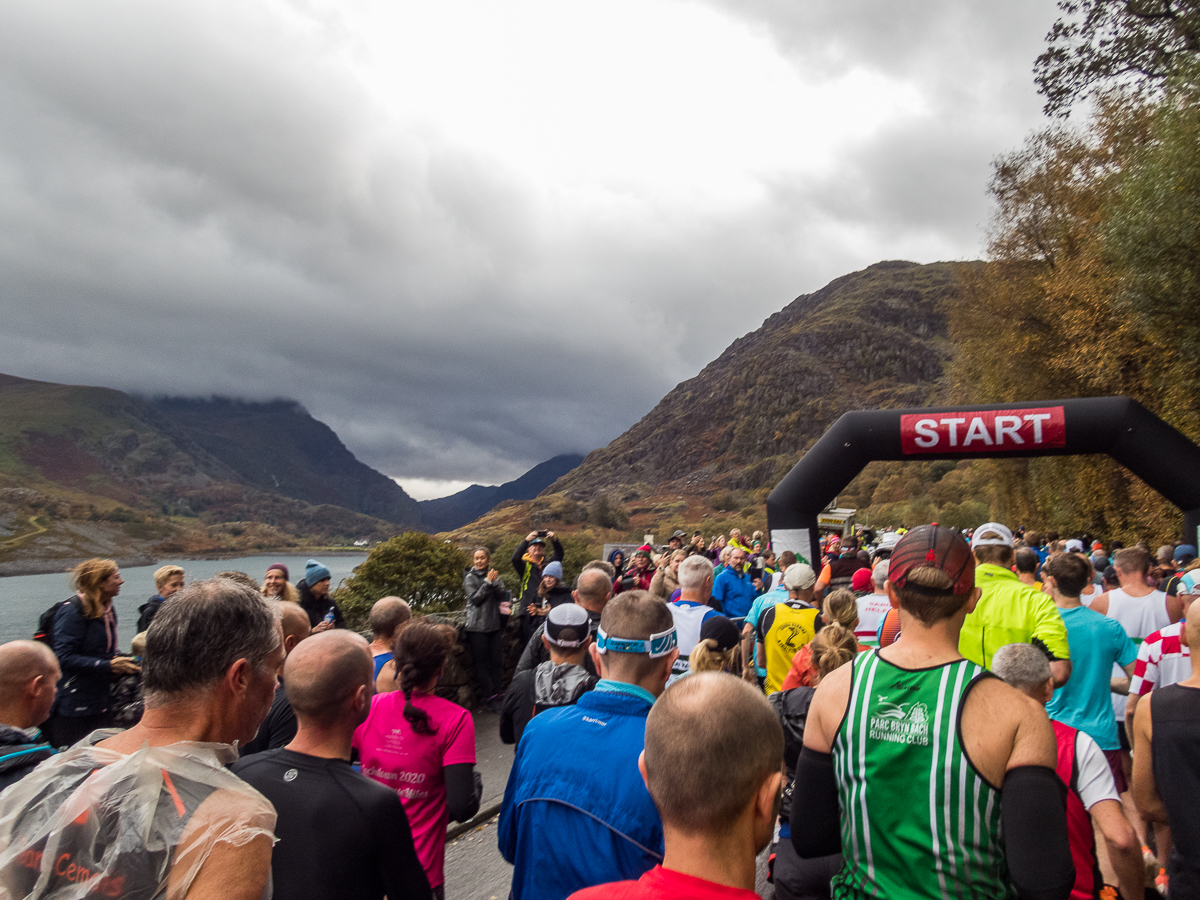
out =
[[[113,611],[114,625],[116,611]],[[58,715],[101,715],[108,712],[108,689],[113,682],[109,662],[115,646],[108,648],[104,617],[84,618],[76,604],[67,602],[54,616],[54,655],[62,668],[59,696],[54,700]]]

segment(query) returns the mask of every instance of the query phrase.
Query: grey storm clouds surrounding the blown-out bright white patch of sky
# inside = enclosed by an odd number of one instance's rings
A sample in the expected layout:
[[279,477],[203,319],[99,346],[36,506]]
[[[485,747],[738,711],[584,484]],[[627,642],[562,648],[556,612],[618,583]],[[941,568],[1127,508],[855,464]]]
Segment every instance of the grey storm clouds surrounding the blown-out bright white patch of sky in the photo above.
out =
[[707,214],[563,221],[486,151],[386,121],[334,17],[5,5],[0,370],[294,397],[401,480],[497,482],[607,443],[800,292],[977,252],[1051,4],[718,6],[806,77],[877,70],[923,110]]

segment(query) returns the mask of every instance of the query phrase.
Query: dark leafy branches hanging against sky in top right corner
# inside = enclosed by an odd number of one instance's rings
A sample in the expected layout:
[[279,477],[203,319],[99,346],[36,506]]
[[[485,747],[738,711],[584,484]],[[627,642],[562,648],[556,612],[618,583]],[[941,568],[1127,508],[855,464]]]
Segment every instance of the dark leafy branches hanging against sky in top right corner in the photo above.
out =
[[1099,88],[1157,88],[1200,54],[1198,0],[1058,0],[1063,16],[1033,66],[1049,115]]

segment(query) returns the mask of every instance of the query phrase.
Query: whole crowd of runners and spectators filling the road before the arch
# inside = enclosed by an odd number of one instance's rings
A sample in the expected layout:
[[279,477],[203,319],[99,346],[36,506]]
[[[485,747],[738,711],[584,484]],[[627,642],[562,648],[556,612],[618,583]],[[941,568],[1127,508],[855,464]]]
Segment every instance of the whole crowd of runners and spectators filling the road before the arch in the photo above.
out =
[[[118,647],[110,560],[0,646],[0,898],[442,898],[482,786],[466,644],[515,744],[515,900],[1200,896],[1200,562],[990,522],[676,532],[568,580],[480,547],[464,622],[329,569],[156,572]],[[509,641],[505,641],[509,636]],[[520,658],[506,648],[517,636]],[[514,668],[515,662],[515,668]]]

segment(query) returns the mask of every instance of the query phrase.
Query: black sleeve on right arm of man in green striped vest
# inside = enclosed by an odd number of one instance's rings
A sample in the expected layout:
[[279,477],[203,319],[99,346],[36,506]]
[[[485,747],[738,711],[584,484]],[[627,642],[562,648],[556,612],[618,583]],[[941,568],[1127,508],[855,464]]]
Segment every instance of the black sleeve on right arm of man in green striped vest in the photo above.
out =
[[1075,884],[1067,840],[1067,786],[1045,766],[1004,775],[1000,800],[1008,874],[1021,900],[1066,900]]

